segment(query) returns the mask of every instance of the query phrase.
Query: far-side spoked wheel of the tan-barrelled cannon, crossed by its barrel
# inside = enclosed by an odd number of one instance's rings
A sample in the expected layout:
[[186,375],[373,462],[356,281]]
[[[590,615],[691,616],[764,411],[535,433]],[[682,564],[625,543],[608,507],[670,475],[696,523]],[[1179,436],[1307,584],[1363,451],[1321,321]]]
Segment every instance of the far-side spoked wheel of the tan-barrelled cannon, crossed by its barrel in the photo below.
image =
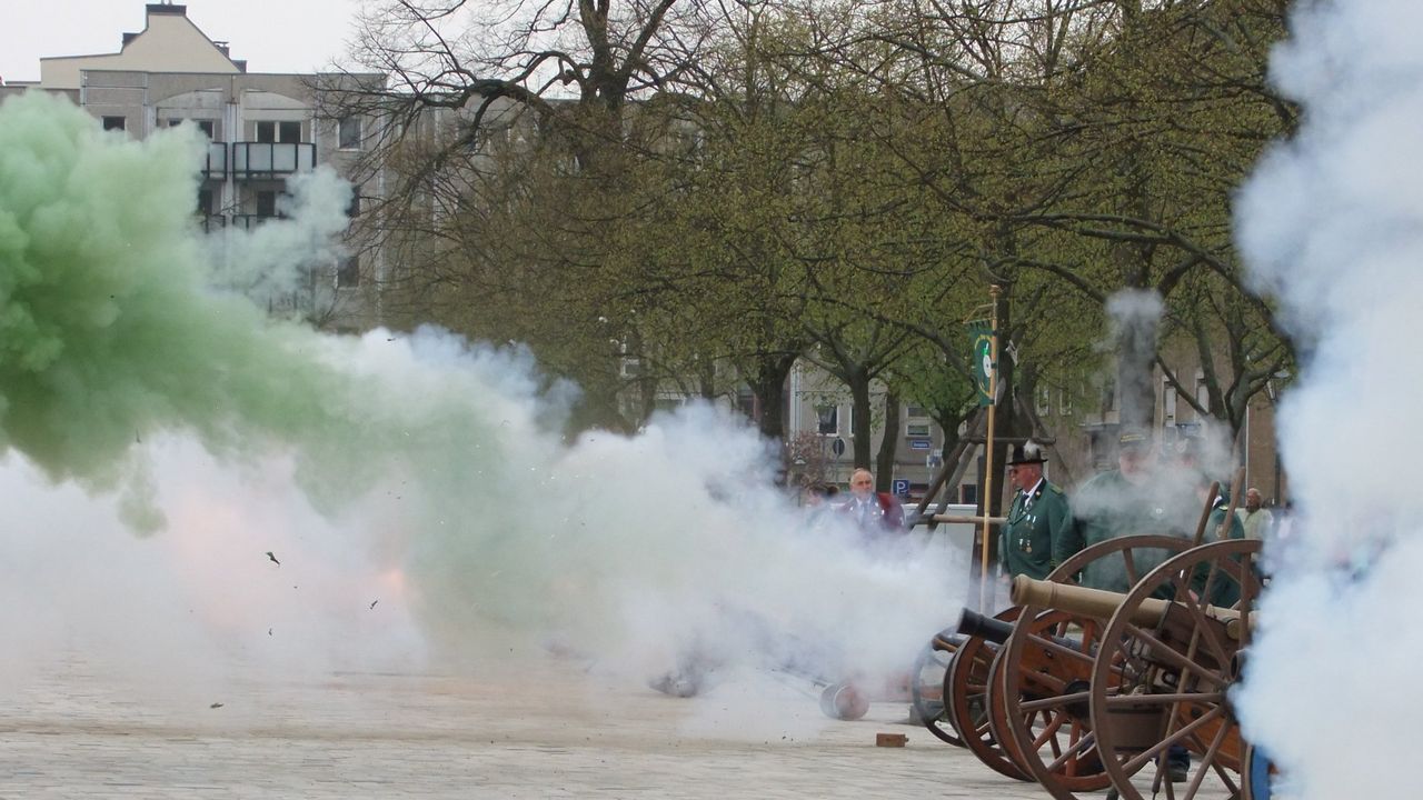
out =
[[[1133,585],[1190,545],[1178,537],[1109,540],[1064,561],[1047,581],[1077,584],[1081,575],[1096,575],[1109,586]],[[1019,622],[1003,648],[1003,710],[995,730],[1053,797],[1100,791],[1111,777],[1091,732],[1090,682],[1106,621],[1035,606],[1025,606],[1023,615],[1032,622]]]

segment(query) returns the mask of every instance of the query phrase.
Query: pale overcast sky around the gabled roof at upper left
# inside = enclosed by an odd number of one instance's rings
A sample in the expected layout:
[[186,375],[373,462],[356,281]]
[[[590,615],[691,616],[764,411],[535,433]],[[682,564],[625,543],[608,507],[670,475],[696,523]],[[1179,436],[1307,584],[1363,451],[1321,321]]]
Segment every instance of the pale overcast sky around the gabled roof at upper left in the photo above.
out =
[[[359,0],[189,0],[188,19],[250,73],[309,73],[346,53]],[[40,80],[41,56],[118,53],[144,0],[0,0],[0,77]]]

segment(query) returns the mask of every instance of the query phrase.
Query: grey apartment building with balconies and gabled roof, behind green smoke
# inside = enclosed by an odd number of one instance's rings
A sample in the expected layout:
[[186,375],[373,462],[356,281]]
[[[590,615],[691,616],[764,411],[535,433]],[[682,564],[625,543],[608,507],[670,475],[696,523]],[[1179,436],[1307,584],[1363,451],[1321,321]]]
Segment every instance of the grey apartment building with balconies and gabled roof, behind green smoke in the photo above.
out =
[[[317,165],[356,175],[356,162],[376,131],[361,117],[323,118],[320,93],[347,84],[383,85],[381,74],[317,75],[249,73],[225,41],[188,19],[186,6],[149,3],[145,27],[122,34],[117,53],[40,60],[38,83],[10,83],[18,91],[68,97],[104,128],[142,138],[159,128],[196,125],[209,140],[194,198],[195,223],[211,236],[252,229],[282,216],[287,179]],[[347,208],[353,221],[381,192],[381,177],[366,175]],[[360,330],[380,322],[379,286],[386,269],[380,248],[356,225],[342,255],[303,270],[300,288],[272,302],[273,313],[297,315],[330,330]]]

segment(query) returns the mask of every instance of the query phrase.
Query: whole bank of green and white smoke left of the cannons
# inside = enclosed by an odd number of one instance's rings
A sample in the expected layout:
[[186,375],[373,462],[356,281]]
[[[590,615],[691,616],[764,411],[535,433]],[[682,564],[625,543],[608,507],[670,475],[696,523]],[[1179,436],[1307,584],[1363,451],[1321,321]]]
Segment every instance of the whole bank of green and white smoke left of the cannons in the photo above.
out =
[[7,673],[78,649],[185,685],[556,643],[639,680],[687,653],[884,675],[956,614],[949,565],[810,530],[729,416],[565,446],[517,349],[327,337],[215,289],[199,154],[0,105]]

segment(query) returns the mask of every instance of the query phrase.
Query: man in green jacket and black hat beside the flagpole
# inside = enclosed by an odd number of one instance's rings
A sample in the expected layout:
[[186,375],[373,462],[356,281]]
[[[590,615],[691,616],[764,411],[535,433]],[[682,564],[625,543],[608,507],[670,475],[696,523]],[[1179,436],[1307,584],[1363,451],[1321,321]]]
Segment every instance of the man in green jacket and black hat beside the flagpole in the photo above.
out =
[[1017,494],[999,528],[998,551],[1009,578],[1027,575],[1043,579],[1063,552],[1060,541],[1072,530],[1067,495],[1043,477],[1043,448],[1036,441],[1015,444],[1007,458],[1007,477]]

